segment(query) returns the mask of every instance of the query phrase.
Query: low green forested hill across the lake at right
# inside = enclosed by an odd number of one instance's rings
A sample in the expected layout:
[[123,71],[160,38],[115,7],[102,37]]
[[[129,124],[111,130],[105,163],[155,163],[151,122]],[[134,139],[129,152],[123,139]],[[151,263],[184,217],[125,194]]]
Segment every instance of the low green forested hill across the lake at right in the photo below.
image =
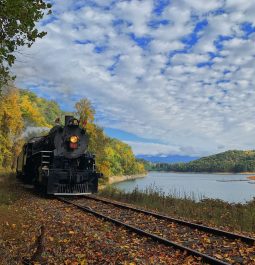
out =
[[156,163],[150,170],[176,172],[255,172],[255,150],[232,150],[189,163]]

